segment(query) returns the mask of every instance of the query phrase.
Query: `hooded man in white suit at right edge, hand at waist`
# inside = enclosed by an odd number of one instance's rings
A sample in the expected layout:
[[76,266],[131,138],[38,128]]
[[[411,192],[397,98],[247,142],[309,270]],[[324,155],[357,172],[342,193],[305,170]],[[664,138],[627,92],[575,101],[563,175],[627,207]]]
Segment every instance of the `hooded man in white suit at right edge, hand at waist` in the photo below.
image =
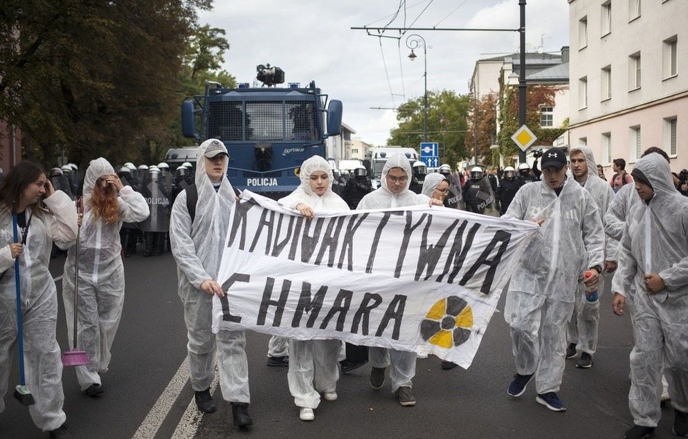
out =
[[[642,202],[628,212],[612,283],[613,310],[624,312],[633,290],[631,391],[634,426],[626,438],[644,438],[657,427],[662,364],[674,408],[673,432],[688,435],[688,199],[676,191],[669,164],[658,153],[631,173]],[[671,214],[667,214],[671,212]]]

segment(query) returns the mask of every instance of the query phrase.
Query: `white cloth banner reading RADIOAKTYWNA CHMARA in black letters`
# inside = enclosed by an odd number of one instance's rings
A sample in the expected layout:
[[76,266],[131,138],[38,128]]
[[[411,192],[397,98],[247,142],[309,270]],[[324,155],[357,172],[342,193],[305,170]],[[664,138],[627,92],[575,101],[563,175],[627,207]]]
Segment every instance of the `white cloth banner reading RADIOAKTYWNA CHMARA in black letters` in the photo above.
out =
[[426,205],[307,220],[242,193],[212,330],[432,353],[468,368],[538,226]]

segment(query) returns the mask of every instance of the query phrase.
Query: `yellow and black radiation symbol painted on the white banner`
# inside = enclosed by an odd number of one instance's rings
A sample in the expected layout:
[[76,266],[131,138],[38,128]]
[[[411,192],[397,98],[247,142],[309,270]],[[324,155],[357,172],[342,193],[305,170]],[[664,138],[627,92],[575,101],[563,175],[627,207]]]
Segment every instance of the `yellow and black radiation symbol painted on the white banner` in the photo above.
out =
[[453,348],[471,336],[473,310],[464,299],[450,296],[437,301],[420,325],[426,342],[440,348]]

